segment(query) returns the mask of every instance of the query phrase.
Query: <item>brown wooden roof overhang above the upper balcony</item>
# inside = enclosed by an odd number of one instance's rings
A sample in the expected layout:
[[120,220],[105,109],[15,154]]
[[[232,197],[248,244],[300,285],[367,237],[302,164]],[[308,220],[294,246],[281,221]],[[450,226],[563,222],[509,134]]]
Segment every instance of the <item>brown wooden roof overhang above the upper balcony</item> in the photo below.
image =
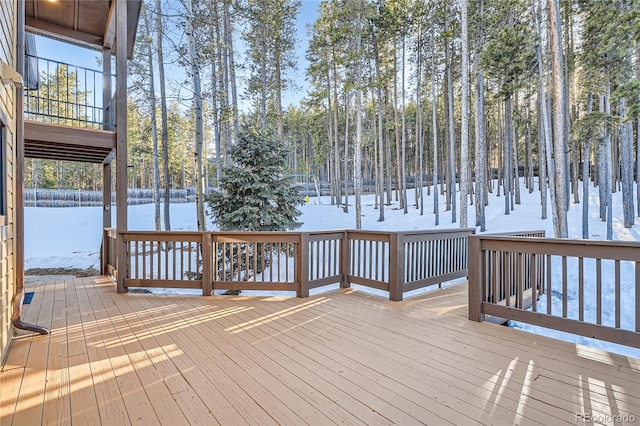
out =
[[[127,0],[127,57],[133,54],[142,0]],[[26,29],[65,43],[115,52],[115,0],[25,0]]]

